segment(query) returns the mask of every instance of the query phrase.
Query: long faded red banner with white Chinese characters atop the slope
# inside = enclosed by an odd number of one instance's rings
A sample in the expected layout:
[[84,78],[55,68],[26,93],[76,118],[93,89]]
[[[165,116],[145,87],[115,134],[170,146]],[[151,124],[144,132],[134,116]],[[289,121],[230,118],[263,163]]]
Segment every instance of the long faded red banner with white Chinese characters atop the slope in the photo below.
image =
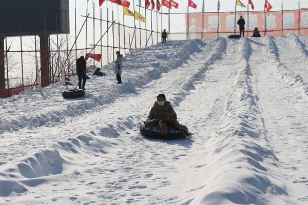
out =
[[[283,14],[283,17],[282,17]],[[300,15],[300,16],[299,16]],[[256,27],[261,31],[261,35],[265,34],[265,16],[263,11],[252,11],[248,13],[237,12],[221,12],[219,18],[217,13],[204,13],[204,26],[202,26],[202,13],[189,13],[189,38],[200,38],[201,32],[203,32],[205,38],[216,38],[217,28],[219,26],[219,36],[228,36],[236,32],[239,32],[238,25],[236,24],[240,16],[246,21],[245,31],[249,29],[252,32]],[[282,21],[283,18],[283,21]],[[249,22],[248,22],[249,19]],[[300,25],[298,25],[298,19],[300,19]],[[219,21],[219,22],[218,22]],[[186,15],[187,24],[187,15]],[[300,34],[308,35],[308,9],[288,10],[288,11],[273,11],[266,12],[266,34],[271,36],[281,36],[282,28],[283,35],[288,33],[297,33],[298,26],[300,26]],[[187,29],[187,25],[186,25]],[[186,31],[187,32],[187,31]],[[194,34],[197,33],[197,34]],[[251,36],[252,33],[249,33]],[[247,37],[247,33],[245,33]]]

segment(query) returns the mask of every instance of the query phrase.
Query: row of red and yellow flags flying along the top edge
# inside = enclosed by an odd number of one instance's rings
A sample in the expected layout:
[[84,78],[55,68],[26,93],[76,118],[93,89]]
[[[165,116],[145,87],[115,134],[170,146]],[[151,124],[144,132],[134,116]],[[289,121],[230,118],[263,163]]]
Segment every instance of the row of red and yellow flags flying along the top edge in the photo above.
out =
[[[110,1],[111,3],[118,4],[118,5],[126,7],[126,8],[129,8],[129,6],[130,6],[130,3],[128,2],[128,0],[99,0],[100,6],[102,6],[105,1]],[[172,9],[172,7],[176,8],[176,9],[179,8],[179,4],[177,2],[175,2],[174,0],[161,0],[161,1],[162,1],[162,4],[160,3],[160,0],[156,0],[156,4],[155,4],[155,0],[145,0],[145,8],[148,9],[150,7],[150,5],[152,5],[152,10],[155,9],[155,6],[156,6],[158,11],[160,11],[161,6],[165,6],[168,9]],[[87,2],[89,2],[89,0],[87,0]],[[141,4],[141,0],[139,0],[139,4]],[[254,6],[252,0],[248,0],[248,4],[251,5],[253,10],[255,10],[255,6]],[[240,0],[236,0],[236,6],[246,8],[246,5],[243,4]],[[197,9],[197,4],[192,2],[192,0],[188,0],[188,7],[192,7],[194,9]],[[273,6],[271,4],[269,4],[268,0],[265,0],[266,11],[268,12],[272,8],[273,8]],[[218,11],[220,10],[220,0],[218,0],[217,9],[218,9]],[[203,0],[203,4],[202,4],[202,11],[204,12],[204,0]],[[136,11],[135,11],[135,13],[136,13]]]

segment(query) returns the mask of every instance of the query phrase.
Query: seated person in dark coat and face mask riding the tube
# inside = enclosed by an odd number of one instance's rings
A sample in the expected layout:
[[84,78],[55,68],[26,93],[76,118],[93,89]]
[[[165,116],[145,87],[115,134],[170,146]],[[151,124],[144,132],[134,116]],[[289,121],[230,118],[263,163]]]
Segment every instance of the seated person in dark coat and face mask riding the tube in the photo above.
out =
[[167,126],[174,128],[179,127],[177,113],[172,108],[170,102],[166,101],[166,96],[164,94],[159,94],[157,96],[157,101],[151,108],[148,118],[144,121],[144,125],[159,125],[162,135],[166,134]]

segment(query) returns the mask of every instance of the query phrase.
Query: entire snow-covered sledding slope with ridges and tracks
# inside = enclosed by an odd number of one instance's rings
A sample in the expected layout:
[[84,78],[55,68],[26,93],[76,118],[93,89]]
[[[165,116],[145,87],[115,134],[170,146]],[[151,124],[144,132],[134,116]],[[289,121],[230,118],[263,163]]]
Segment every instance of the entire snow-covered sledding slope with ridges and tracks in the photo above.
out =
[[[0,99],[0,204],[308,204],[308,36],[138,49],[91,76]],[[77,79],[72,79],[75,84]],[[195,135],[140,135],[165,93]]]

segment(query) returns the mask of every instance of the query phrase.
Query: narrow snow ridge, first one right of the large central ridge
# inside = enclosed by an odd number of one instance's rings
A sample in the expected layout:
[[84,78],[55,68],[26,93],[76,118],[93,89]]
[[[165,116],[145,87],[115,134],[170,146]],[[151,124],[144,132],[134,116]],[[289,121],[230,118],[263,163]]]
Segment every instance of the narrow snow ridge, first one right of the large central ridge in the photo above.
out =
[[277,47],[273,40],[273,37],[265,37],[266,47],[265,52],[267,57],[271,60],[271,63],[276,67],[277,72],[281,75],[282,79],[285,79],[290,86],[297,86],[303,92],[305,96],[308,96],[308,85],[304,82],[302,77],[299,74],[294,73],[291,70],[288,70],[283,64],[280,63],[279,54],[277,53]]

